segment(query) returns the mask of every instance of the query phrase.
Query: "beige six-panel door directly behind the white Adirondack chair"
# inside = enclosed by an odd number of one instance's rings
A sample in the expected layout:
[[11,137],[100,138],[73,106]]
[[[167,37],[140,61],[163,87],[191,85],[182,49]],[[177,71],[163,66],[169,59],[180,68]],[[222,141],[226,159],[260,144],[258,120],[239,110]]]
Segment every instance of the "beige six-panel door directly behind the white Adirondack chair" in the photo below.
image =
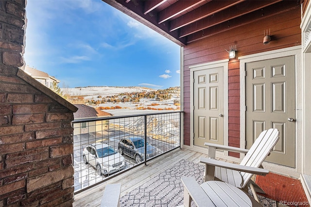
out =
[[276,128],[280,139],[265,161],[295,167],[295,57],[246,63],[245,72],[246,148]]

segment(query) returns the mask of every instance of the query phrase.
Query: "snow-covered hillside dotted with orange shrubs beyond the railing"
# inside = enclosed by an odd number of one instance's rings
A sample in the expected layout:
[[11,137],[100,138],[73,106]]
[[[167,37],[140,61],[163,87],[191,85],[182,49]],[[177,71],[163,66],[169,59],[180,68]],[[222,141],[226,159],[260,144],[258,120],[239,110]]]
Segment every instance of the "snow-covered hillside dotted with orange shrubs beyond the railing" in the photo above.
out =
[[[175,91],[170,91],[170,93],[172,93],[172,98],[168,100],[159,101],[156,98],[139,98],[139,102],[121,101],[118,103],[103,102],[103,98],[107,96],[119,95],[122,93],[148,93],[157,90],[137,86],[88,86],[76,88],[62,88],[62,90],[65,94],[70,95],[71,100],[68,99],[68,101],[72,102],[73,104],[89,104],[92,107],[100,107],[103,111],[111,113],[115,116],[180,110],[179,104],[176,104],[176,101],[177,103],[180,102],[179,87]],[[75,100],[80,100],[82,103],[74,102]]]

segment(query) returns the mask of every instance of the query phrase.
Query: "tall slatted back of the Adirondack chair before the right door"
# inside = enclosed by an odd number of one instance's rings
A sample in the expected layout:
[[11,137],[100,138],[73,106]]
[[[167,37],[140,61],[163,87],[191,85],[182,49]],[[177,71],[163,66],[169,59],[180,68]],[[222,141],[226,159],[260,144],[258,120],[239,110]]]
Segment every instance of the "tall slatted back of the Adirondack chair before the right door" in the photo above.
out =
[[[248,153],[242,159],[240,165],[258,168],[273,150],[273,147],[276,145],[278,139],[279,131],[277,129],[268,129],[261,132],[259,137],[249,149]],[[241,172],[241,176],[243,180],[241,187],[244,188],[253,174]]]

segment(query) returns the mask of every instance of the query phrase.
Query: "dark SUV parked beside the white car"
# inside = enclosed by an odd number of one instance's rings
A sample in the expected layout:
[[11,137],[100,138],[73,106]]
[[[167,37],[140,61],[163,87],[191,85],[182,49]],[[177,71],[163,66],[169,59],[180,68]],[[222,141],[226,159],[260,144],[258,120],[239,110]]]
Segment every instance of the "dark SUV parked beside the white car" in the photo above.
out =
[[[155,156],[160,151],[154,146],[147,145],[147,159]],[[123,138],[119,142],[119,153],[133,157],[137,163],[143,161],[145,157],[145,140],[139,137]]]

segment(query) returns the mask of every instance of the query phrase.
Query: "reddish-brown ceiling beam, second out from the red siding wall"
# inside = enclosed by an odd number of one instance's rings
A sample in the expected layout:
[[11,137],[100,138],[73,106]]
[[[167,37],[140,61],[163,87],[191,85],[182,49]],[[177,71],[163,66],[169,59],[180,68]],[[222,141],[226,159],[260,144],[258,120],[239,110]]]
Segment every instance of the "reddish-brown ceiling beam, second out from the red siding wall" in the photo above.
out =
[[[213,16],[206,17],[185,27],[180,28],[179,37],[191,35],[193,33],[202,31],[209,27],[215,26],[230,19],[241,17],[242,15],[260,10],[266,6],[275,4],[281,0],[259,0],[259,1],[243,1],[242,3],[223,10]],[[288,2],[288,1],[286,1]]]

